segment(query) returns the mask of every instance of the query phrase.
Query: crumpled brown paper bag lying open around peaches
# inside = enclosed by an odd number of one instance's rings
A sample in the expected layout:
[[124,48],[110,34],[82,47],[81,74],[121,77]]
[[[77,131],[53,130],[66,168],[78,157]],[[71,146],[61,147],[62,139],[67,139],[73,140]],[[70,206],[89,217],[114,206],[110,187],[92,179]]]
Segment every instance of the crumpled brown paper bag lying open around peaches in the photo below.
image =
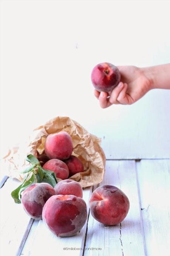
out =
[[[72,175],[71,180],[78,181],[82,187],[93,186],[102,181],[105,172],[105,154],[100,146],[101,140],[89,134],[81,125],[69,117],[57,116],[34,129],[27,143],[14,148],[4,157],[8,175],[23,180],[24,175],[18,173],[29,165],[25,160],[28,154],[37,157],[37,151],[42,154],[48,134],[66,131],[71,135],[74,150],[72,155],[78,157],[83,165],[84,172]],[[61,179],[57,178],[58,181]]]

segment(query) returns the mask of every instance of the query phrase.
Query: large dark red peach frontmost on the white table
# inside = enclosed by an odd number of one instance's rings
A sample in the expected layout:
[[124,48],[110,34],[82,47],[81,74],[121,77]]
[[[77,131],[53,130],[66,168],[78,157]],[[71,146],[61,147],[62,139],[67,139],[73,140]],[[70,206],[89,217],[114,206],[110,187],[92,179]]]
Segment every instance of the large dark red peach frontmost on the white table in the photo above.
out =
[[52,196],[43,208],[43,221],[56,236],[74,236],[86,219],[85,201],[73,195]]

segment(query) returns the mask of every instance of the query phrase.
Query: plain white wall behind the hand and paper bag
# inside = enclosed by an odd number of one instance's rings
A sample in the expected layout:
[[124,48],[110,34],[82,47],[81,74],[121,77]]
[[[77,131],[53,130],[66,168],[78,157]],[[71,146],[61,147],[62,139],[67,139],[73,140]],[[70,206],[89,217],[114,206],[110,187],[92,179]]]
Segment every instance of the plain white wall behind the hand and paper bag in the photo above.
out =
[[170,1],[1,1],[2,154],[60,115],[101,137],[107,158],[170,157],[170,91],[101,109],[90,79],[100,62],[168,63],[169,14]]

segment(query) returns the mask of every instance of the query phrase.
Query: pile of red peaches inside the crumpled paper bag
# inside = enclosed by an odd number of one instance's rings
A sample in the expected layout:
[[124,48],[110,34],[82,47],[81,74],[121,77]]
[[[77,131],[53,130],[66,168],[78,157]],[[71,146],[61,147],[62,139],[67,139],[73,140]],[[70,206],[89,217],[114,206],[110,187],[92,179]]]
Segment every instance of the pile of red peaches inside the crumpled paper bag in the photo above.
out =
[[71,136],[67,132],[61,131],[47,136],[45,154],[38,154],[38,160],[44,164],[44,169],[53,171],[57,178],[65,180],[84,171],[82,162],[79,158],[71,155],[72,151]]

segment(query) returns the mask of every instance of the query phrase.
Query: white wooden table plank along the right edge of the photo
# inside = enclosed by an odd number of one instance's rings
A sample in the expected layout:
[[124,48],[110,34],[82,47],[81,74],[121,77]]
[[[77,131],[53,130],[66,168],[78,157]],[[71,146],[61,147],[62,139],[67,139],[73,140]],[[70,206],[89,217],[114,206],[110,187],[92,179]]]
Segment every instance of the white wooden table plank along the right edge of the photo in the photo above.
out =
[[147,256],[170,255],[170,160],[137,163]]

